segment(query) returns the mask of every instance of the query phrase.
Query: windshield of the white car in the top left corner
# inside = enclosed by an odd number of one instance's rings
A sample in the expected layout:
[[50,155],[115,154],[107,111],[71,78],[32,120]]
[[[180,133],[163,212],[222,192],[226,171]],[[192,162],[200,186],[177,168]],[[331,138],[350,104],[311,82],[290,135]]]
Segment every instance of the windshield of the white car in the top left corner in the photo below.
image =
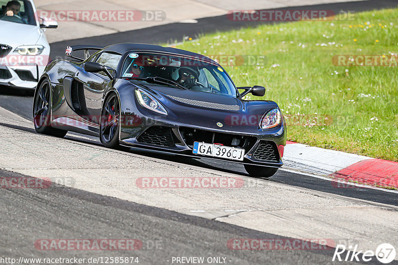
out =
[[0,0],[0,20],[36,25],[32,4],[27,0]]

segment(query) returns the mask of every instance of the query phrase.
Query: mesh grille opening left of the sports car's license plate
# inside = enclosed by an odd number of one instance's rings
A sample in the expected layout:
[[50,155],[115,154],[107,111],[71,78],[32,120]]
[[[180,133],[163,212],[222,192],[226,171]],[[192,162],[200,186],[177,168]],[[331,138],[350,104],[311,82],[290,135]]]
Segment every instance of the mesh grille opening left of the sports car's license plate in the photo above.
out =
[[137,141],[162,146],[174,145],[171,128],[165,126],[150,127],[137,137]]

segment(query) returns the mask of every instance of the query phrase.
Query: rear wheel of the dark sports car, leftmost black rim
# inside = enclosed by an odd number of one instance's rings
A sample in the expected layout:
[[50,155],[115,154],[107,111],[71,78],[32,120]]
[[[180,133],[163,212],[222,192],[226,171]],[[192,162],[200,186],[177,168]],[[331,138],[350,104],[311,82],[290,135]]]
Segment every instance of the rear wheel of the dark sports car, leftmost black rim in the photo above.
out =
[[50,83],[44,80],[38,85],[33,97],[33,124],[37,133],[64,137],[68,131],[51,127]]

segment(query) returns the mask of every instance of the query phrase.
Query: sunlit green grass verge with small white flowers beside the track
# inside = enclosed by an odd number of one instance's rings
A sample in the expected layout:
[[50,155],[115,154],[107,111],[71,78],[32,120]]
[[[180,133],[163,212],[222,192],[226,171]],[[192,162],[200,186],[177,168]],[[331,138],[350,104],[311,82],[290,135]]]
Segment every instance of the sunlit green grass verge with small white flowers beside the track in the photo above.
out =
[[261,25],[178,48],[266,56],[259,66],[224,68],[237,86],[265,86],[263,99],[276,101],[286,118],[331,117],[327,126],[289,122],[288,140],[398,161],[398,67],[332,64],[334,55],[396,55],[397,17],[398,9],[384,9],[355,13],[355,20]]

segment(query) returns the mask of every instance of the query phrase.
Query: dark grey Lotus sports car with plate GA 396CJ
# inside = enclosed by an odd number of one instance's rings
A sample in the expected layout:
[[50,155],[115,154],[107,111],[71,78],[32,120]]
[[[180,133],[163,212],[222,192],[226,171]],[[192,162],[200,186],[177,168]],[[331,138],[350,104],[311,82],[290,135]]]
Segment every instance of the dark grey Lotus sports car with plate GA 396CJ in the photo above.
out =
[[133,43],[67,47],[66,55],[74,60],[50,62],[38,82],[38,133],[72,131],[99,136],[110,148],[241,163],[255,177],[282,166],[286,125],[278,105],[244,100],[264,96],[265,88],[236,87],[215,61]]

